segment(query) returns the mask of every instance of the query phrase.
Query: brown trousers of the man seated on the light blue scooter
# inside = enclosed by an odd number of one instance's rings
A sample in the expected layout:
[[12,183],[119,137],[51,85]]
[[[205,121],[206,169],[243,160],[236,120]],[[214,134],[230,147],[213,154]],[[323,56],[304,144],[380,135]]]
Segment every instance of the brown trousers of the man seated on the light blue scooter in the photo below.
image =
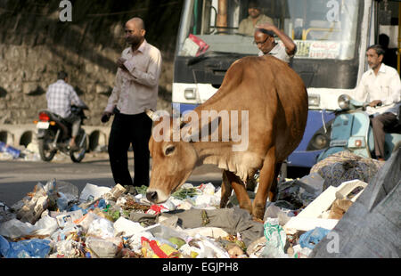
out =
[[386,112],[371,118],[373,138],[374,138],[374,153],[376,158],[384,158],[384,142],[385,131],[384,129],[397,124],[397,116],[393,113]]

